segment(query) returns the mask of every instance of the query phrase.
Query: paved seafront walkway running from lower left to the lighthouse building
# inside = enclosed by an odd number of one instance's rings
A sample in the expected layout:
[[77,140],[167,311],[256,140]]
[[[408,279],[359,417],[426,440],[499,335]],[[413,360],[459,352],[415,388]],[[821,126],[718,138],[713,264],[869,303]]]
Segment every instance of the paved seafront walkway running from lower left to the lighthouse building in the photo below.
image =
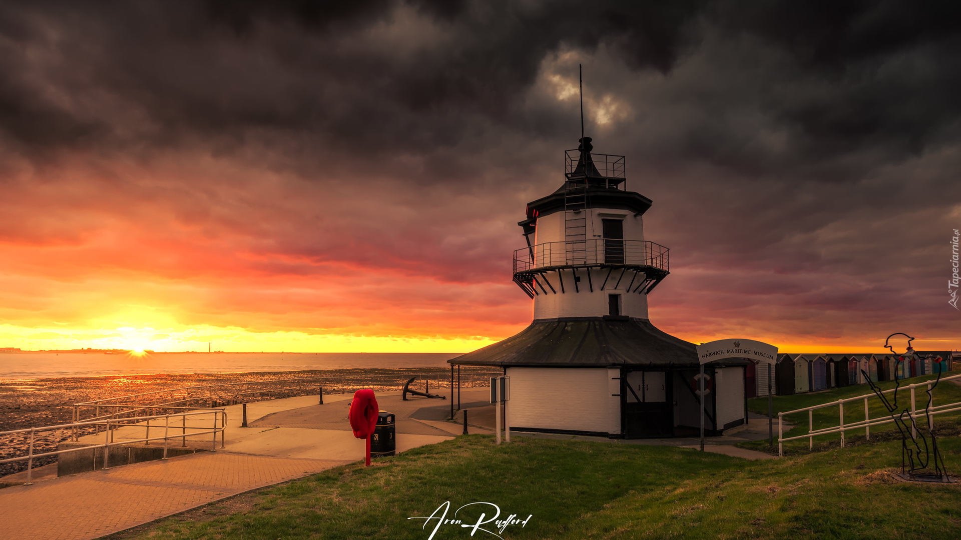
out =
[[[485,389],[461,393],[461,406],[469,409],[471,433],[493,432],[494,407],[483,402],[488,395]],[[0,540],[91,540],[251,489],[355,462],[363,458],[364,443],[354,438],[347,423],[351,398],[325,396],[325,405],[317,405],[316,396],[248,404],[248,428],[240,427],[241,406],[234,405],[227,407],[229,420],[223,450],[0,489],[0,508],[4,511]],[[450,415],[447,401],[404,402],[399,394],[382,394],[378,401],[382,409],[397,416],[398,452],[449,440],[463,430],[461,425],[443,421]],[[209,424],[209,420],[194,417],[187,425],[200,427],[205,422]],[[746,430],[737,435],[711,437],[704,450],[748,459],[772,457],[732,446],[740,440],[766,438],[766,419],[752,418]],[[102,443],[103,436],[91,435],[89,442]],[[698,442],[683,438],[626,441],[519,432],[512,436],[682,448],[694,448]],[[117,442],[140,437],[141,428],[113,432]],[[204,436],[209,440],[207,437]]]

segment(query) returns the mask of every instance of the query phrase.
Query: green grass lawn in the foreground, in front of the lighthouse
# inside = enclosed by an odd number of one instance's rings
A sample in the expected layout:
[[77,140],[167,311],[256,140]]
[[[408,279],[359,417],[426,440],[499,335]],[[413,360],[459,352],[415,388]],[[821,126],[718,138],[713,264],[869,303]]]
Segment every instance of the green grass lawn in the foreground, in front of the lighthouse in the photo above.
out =
[[[500,533],[505,539],[961,538],[961,488],[893,481],[883,470],[899,466],[894,442],[747,461],[609,442],[492,441],[459,436],[241,496],[245,507],[215,503],[121,535],[427,540],[436,521],[422,529],[425,520],[407,518],[450,501],[448,518],[479,502],[496,503],[501,518],[532,515]],[[961,471],[961,440],[943,447],[949,469]],[[473,524],[491,510],[471,506],[457,517]],[[445,525],[433,538],[472,536]],[[496,536],[478,530],[473,538]]]

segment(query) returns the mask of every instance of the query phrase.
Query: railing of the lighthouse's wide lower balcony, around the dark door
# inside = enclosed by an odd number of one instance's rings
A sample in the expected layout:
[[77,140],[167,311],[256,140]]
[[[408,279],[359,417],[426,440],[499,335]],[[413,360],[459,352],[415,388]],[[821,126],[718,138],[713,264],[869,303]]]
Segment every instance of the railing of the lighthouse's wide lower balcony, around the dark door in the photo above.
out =
[[648,266],[670,271],[668,252],[648,240],[592,238],[570,242],[545,242],[514,252],[514,274],[563,266]]

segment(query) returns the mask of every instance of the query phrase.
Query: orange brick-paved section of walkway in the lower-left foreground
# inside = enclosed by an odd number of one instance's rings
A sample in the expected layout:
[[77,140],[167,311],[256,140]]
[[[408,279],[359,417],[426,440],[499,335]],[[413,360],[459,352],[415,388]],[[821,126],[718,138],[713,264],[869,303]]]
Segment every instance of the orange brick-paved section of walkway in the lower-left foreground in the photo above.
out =
[[2,540],[89,540],[350,461],[224,451],[0,490]]

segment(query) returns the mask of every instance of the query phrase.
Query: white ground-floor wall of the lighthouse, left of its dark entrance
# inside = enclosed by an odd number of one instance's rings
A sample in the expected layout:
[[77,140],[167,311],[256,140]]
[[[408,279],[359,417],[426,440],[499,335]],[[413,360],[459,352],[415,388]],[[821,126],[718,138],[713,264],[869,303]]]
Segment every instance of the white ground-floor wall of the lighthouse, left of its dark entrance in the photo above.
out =
[[620,433],[621,397],[616,395],[620,381],[611,380],[618,374],[606,368],[507,368],[507,424]]

